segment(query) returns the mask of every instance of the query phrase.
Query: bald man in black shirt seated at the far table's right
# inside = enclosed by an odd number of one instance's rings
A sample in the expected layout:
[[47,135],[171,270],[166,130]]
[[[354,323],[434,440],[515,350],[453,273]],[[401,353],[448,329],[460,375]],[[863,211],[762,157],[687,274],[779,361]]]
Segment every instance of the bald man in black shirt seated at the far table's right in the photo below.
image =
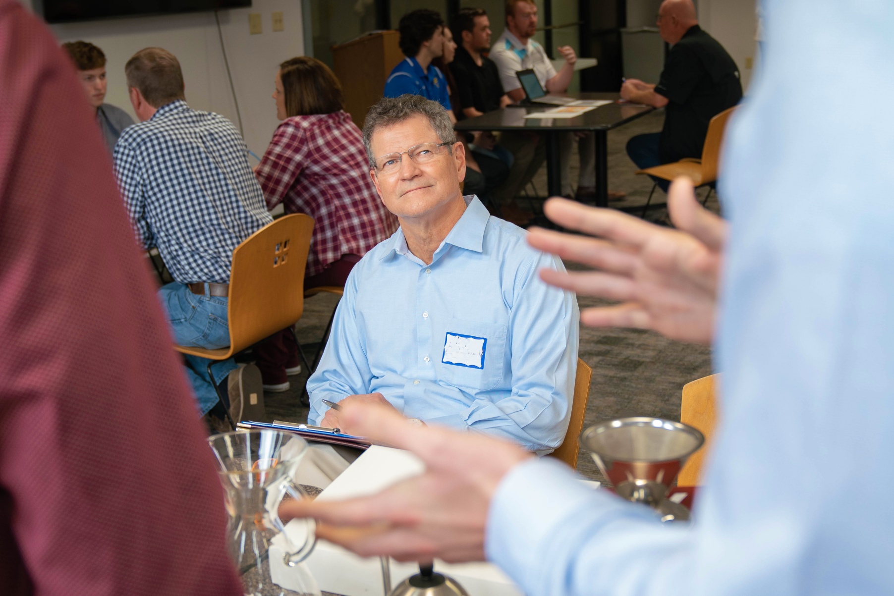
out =
[[[673,45],[658,84],[628,79],[620,88],[624,99],[665,108],[662,132],[628,141],[627,153],[640,169],[701,158],[708,122],[742,98],[736,63],[698,26],[692,0],[664,0],[657,24]],[[654,180],[667,191],[667,180]]]

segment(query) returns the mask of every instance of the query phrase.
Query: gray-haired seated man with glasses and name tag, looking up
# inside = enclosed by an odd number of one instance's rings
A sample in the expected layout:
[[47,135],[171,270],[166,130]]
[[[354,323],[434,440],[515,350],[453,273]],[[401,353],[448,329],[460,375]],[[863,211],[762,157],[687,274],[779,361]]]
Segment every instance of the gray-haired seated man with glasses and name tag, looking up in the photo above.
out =
[[538,277],[564,271],[558,257],[461,196],[462,145],[436,105],[384,99],[367,115],[373,180],[401,228],[350,273],[308,420],[339,424],[324,399],[374,399],[547,452],[568,428],[577,300]]

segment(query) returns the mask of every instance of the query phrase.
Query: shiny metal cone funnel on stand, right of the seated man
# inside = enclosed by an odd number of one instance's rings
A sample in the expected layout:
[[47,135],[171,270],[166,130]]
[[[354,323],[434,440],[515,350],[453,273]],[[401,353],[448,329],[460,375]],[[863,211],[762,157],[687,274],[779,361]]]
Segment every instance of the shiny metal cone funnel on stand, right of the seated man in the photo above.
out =
[[665,497],[704,443],[697,429],[662,418],[619,418],[586,429],[580,442],[621,497],[657,509],[662,521],[689,518],[687,508]]

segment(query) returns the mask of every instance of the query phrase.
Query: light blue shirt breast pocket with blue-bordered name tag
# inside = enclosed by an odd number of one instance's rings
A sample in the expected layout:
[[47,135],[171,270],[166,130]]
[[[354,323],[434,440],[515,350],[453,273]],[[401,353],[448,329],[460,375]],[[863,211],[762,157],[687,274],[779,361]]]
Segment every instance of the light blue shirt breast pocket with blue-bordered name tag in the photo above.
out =
[[441,375],[456,387],[490,390],[502,381],[508,325],[451,318],[441,343]]

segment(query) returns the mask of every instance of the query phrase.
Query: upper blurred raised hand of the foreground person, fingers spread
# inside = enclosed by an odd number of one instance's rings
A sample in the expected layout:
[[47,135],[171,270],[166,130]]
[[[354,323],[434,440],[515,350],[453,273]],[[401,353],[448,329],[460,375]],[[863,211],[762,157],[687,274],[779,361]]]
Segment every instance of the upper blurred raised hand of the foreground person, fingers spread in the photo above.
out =
[[671,184],[668,208],[678,230],[551,198],[544,212],[553,222],[603,239],[531,231],[527,241],[532,247],[598,270],[543,269],[541,278],[578,294],[620,300],[617,306],[581,312],[586,325],[652,329],[674,340],[710,343],[727,224],[698,205],[687,178]]

